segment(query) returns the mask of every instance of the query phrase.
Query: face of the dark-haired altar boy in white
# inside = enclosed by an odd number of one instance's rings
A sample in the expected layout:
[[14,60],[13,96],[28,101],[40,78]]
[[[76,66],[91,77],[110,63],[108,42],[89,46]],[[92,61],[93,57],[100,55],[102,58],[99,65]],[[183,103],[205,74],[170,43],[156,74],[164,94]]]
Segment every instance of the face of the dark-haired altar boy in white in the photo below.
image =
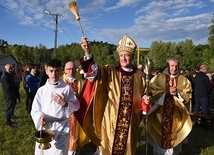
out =
[[53,68],[48,66],[46,69],[46,74],[48,75],[51,83],[56,83],[59,80],[61,73],[61,68]]

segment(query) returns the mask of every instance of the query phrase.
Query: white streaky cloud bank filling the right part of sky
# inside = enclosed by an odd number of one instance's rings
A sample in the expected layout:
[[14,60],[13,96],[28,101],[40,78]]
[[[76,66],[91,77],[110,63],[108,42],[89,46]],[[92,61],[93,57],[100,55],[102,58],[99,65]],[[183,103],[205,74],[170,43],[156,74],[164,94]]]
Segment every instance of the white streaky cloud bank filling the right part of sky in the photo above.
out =
[[[199,9],[206,9],[205,3],[168,0],[144,4],[139,4],[142,7],[135,11],[134,25],[121,29],[95,29],[93,35],[116,43],[123,34],[127,34],[141,40],[146,46],[150,46],[152,41],[179,42],[185,39],[192,39],[195,44],[207,43],[212,15],[198,12]],[[193,10],[197,13],[193,13]]]

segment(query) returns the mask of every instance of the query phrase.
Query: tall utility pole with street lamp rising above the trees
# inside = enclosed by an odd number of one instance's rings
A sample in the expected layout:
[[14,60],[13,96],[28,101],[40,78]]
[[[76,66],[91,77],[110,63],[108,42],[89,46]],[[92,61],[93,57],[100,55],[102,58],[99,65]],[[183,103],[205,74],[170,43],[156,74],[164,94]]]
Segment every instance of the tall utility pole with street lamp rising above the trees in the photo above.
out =
[[54,57],[56,57],[56,52],[57,52],[57,32],[58,32],[58,17],[62,16],[61,14],[54,14],[54,13],[50,13],[49,11],[45,11],[45,13],[47,15],[52,15],[54,16],[54,21],[55,21],[55,35],[54,35]]

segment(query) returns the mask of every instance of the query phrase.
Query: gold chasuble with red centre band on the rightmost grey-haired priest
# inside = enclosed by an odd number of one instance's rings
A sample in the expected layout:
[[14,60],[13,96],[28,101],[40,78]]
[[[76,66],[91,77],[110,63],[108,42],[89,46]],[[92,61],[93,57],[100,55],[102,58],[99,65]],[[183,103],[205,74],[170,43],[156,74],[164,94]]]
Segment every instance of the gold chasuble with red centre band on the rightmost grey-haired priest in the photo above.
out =
[[[163,94],[169,86],[177,88],[177,96]],[[150,81],[151,103],[155,103],[148,115],[148,132],[154,141],[164,149],[181,143],[192,129],[187,109],[191,100],[191,83],[183,75],[170,77],[167,70]],[[163,98],[163,105],[157,101]]]

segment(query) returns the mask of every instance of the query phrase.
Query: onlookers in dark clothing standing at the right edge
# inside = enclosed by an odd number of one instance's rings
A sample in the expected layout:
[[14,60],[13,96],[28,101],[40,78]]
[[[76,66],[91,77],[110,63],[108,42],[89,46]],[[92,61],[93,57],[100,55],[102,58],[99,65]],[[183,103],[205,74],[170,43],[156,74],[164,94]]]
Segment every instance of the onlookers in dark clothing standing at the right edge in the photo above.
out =
[[[194,74],[185,74],[193,88],[190,109],[193,115],[214,116],[214,74],[207,73],[207,70],[208,67],[202,64]],[[195,125],[200,124],[201,121],[198,116],[193,116]]]

